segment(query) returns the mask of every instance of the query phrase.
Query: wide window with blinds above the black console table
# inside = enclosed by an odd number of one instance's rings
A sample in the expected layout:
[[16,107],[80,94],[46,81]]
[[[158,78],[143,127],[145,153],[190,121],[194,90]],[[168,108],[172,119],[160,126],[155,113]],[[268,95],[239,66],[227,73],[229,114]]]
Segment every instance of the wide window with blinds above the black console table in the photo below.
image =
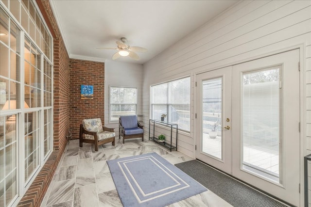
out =
[[178,129],[190,131],[190,77],[151,86],[151,117],[178,124]]

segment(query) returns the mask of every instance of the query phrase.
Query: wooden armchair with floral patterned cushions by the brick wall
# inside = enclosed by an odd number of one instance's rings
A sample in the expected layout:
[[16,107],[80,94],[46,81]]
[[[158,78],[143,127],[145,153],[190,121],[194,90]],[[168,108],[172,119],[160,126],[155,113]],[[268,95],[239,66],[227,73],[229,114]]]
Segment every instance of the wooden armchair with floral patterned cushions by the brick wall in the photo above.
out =
[[93,143],[98,151],[101,144],[112,142],[115,145],[115,136],[113,128],[104,127],[100,118],[84,119],[80,124],[80,147],[83,143]]

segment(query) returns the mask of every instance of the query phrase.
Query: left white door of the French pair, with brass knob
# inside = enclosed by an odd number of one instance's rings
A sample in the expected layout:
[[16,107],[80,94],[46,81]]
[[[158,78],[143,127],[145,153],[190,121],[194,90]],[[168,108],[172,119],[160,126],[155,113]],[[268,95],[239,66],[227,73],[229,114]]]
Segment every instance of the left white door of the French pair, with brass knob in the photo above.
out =
[[231,174],[231,67],[196,78],[196,158]]

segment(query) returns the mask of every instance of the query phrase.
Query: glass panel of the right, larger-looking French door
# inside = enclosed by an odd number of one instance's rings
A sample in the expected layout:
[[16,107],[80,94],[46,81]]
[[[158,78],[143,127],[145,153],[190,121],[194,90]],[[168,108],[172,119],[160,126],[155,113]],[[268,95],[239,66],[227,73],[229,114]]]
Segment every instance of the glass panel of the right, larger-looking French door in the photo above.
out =
[[243,73],[243,169],[279,182],[279,67]]

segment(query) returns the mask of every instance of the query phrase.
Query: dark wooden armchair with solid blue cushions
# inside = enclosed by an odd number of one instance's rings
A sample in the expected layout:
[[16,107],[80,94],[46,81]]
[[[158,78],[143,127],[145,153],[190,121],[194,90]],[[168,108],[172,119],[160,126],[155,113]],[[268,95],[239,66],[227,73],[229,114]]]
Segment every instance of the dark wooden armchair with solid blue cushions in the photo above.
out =
[[142,125],[138,123],[137,116],[120,116],[119,118],[119,139],[123,137],[123,143],[125,139],[139,138],[144,141],[144,130]]

